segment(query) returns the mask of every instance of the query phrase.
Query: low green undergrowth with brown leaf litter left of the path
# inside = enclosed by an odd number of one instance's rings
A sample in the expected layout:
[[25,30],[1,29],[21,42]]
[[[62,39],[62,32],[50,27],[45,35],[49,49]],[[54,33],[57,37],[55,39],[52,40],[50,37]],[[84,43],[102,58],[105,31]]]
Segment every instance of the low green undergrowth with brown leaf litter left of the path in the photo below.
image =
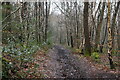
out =
[[[39,65],[34,63],[33,55],[38,50],[47,51],[51,46],[50,43],[38,44],[35,41],[29,42],[29,44],[11,41],[4,45],[2,48],[2,78],[26,78],[29,74],[36,76],[34,71]],[[28,67],[32,68],[25,72]]]

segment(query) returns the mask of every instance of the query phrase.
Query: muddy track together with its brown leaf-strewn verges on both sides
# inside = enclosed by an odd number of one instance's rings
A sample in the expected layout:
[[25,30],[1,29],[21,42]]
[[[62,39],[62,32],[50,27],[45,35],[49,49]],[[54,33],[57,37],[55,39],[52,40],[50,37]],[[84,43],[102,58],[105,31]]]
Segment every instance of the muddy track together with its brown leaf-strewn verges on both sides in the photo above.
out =
[[[110,70],[96,64],[89,57],[73,54],[69,49],[55,45],[47,53],[35,54],[35,71],[42,78],[119,78],[119,70]],[[28,76],[30,78],[30,75]]]

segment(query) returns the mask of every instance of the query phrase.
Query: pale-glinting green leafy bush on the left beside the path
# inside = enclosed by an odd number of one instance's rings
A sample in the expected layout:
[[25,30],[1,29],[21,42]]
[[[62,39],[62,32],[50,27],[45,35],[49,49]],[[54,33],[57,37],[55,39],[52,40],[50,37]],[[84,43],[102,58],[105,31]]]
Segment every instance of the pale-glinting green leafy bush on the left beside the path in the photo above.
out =
[[12,74],[17,73],[26,62],[32,62],[34,60],[32,55],[38,49],[39,46],[33,43],[26,45],[11,41],[5,45],[2,51],[3,78],[13,76]]

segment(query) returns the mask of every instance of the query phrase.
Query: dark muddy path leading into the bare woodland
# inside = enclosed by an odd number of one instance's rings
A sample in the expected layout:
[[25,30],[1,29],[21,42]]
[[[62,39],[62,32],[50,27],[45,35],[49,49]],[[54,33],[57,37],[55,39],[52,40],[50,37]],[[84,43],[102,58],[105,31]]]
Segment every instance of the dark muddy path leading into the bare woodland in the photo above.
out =
[[50,78],[118,78],[97,70],[85,58],[74,56],[69,50],[55,45],[49,50],[46,70]]

